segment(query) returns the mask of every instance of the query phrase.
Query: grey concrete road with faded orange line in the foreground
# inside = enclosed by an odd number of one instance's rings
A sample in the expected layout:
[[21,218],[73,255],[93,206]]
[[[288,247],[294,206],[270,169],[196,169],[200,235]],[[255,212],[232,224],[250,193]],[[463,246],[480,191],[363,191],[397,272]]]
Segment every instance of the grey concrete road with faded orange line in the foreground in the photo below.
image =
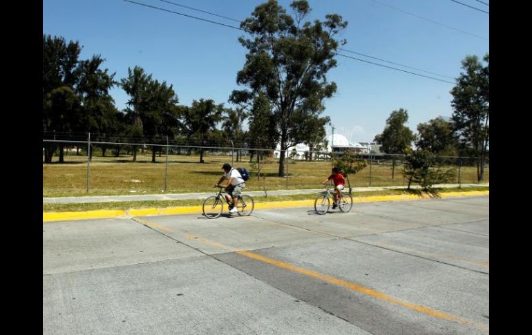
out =
[[43,224],[43,334],[488,332],[488,196]]

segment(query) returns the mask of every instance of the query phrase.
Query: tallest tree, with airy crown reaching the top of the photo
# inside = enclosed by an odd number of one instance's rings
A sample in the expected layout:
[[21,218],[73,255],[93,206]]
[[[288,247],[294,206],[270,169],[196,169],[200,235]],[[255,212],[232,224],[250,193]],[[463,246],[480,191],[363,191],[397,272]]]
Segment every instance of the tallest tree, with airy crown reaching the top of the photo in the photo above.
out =
[[336,92],[336,84],[327,82],[325,75],[336,66],[339,42],[334,37],[348,24],[336,14],[325,15],[324,22],[303,23],[310,13],[308,2],[293,1],[290,7],[293,17],[269,0],[240,23],[251,38],[238,39],[248,53],[236,82],[248,89],[234,90],[229,97],[230,102],[249,107],[262,93],[272,105],[280,132],[279,176],[284,173],[287,149],[305,140],[301,126],[319,118],[325,109],[323,100]]

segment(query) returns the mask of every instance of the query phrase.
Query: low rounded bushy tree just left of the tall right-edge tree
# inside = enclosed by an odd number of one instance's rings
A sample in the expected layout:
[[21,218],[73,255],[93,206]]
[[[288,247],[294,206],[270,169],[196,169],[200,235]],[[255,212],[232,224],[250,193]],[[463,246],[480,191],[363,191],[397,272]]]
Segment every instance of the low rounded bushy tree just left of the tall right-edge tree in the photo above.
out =
[[418,149],[430,151],[435,155],[457,154],[458,140],[453,125],[441,117],[418,124],[417,132],[415,144]]

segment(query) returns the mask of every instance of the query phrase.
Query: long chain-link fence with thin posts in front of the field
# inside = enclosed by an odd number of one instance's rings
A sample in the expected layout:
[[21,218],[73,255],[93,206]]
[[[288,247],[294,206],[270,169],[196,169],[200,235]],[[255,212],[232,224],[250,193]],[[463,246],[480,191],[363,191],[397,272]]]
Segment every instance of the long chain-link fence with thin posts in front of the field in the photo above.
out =
[[[220,180],[225,162],[245,167],[251,173],[246,183],[249,191],[321,189],[321,182],[330,175],[330,153],[299,154],[289,150],[281,173],[278,156],[271,149],[238,146],[92,142],[88,137],[56,137],[43,140],[43,196],[209,192]],[[359,156],[368,166],[349,176],[352,187],[408,184],[401,173],[406,162],[404,155]],[[478,182],[476,158],[438,157],[437,161],[439,169],[453,169],[450,183]],[[489,166],[484,167],[482,182],[489,182]]]

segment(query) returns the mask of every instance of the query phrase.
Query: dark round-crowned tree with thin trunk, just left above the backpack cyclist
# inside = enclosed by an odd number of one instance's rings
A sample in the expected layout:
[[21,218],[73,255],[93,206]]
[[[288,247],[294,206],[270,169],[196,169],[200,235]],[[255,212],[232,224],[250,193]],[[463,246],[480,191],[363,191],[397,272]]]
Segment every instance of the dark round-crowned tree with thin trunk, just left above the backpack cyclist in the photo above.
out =
[[222,119],[223,104],[215,104],[212,99],[193,100],[192,106],[184,110],[184,125],[187,140],[196,140],[200,145],[200,163],[203,163],[203,146]]

